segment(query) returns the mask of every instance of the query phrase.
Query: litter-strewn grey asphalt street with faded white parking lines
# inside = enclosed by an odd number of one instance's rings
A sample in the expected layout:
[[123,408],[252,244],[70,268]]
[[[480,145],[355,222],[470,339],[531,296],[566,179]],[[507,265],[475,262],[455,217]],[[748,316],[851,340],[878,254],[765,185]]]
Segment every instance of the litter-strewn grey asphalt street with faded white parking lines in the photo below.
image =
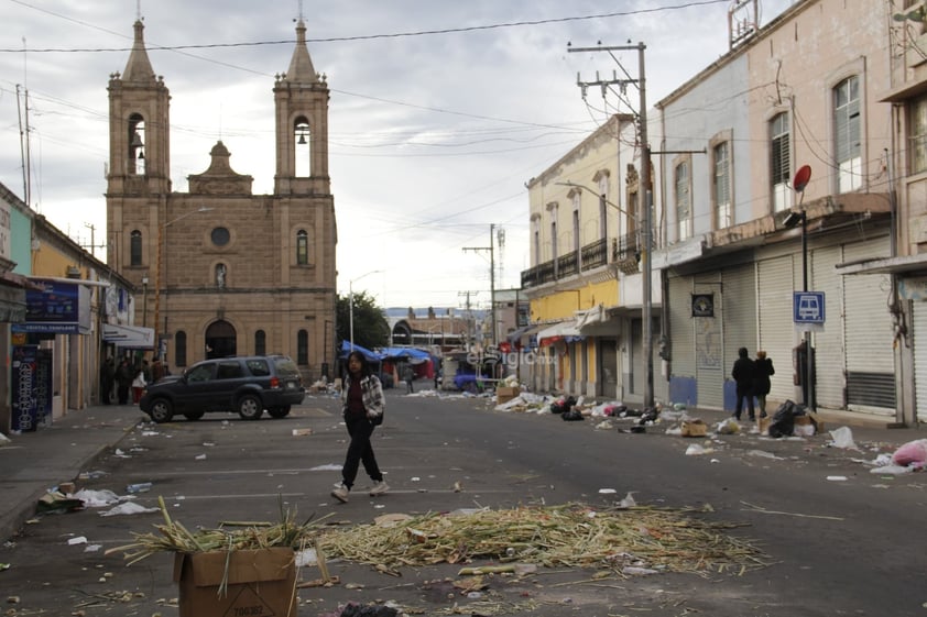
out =
[[[339,615],[348,602],[390,603],[408,615],[925,614],[927,558],[918,539],[927,483],[920,473],[872,474],[868,464],[917,439],[916,431],[854,430],[852,450],[829,447],[827,434],[686,439],[666,434],[669,423],[635,434],[621,430],[630,420],[564,422],[556,415],[495,410],[487,398],[389,390],[388,419],[374,433],[374,448],[391,492],[369,497],[361,472],[350,500],[337,504],[328,494],[340,477],[347,436],[334,397],[310,396],[282,420],[247,422],[216,414],[152,425],[131,408],[95,408],[88,418],[56,429],[63,431],[55,436],[58,449],[94,427],[94,439],[106,433],[109,443],[88,453],[70,476],[61,470],[55,476],[50,455],[44,466],[15,472],[17,486],[73,480],[77,488],[124,495],[129,485],[151,483],[133,503],[155,507],[161,496],[189,529],[275,521],[281,506],[301,518],[327,516],[341,528],[385,514],[477,508],[582,504],[604,513],[633,492],[642,515],[692,508],[764,554],[762,568],[701,574],[542,568],[488,577],[469,594],[454,586],[462,563],[411,565],[391,576],[335,560],[329,568],[339,584],[301,590],[304,617]],[[691,454],[695,447],[700,454]],[[0,462],[13,474],[17,451],[7,448]],[[10,535],[0,549],[0,563],[9,564],[0,571],[3,595],[13,598],[9,615],[177,614],[170,553],[128,566],[121,555],[103,554],[132,541],[133,533],[151,531],[161,514],[103,517],[103,510],[32,516]],[[314,566],[299,572],[303,581],[318,575]]]

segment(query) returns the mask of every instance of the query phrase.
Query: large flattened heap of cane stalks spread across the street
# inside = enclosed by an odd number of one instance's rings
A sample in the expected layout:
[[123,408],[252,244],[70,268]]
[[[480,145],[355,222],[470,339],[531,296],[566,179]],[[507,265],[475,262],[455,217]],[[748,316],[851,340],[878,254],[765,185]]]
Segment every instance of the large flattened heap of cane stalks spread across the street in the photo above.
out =
[[734,525],[706,521],[699,513],[706,510],[595,509],[579,504],[479,509],[326,530],[319,542],[329,558],[371,564],[389,574],[402,566],[471,560],[702,575],[741,574],[767,565],[749,541],[724,533]]

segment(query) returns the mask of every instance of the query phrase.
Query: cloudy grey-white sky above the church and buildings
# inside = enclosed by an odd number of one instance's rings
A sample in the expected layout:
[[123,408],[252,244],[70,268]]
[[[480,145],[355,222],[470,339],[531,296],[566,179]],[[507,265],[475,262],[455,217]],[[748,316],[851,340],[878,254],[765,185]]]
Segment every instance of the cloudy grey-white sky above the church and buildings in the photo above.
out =
[[[728,51],[731,3],[0,0],[0,183],[24,196],[28,90],[31,206],[81,244],[105,243],[106,88],[141,13],[172,96],[174,190],[221,139],[235,170],[270,194],[273,76],[290,64],[302,11],[331,89],[339,291],[400,307],[462,307],[469,293],[484,306],[489,252],[465,249],[488,249],[494,225],[497,289],[517,287],[530,267],[525,183],[617,111],[576,84],[610,78],[615,59],[568,44],[645,43],[653,104]],[[759,3],[765,24],[793,0]],[[636,76],[636,52],[615,58]]]

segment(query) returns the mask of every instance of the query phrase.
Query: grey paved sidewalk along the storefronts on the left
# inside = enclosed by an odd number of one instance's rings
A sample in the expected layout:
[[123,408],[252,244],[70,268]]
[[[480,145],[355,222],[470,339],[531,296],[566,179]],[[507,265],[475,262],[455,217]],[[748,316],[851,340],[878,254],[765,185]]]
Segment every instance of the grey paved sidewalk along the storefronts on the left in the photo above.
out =
[[72,410],[48,428],[11,436],[0,445],[0,541],[32,518],[42,495],[74,481],[101,450],[146,418],[132,405],[100,405]]

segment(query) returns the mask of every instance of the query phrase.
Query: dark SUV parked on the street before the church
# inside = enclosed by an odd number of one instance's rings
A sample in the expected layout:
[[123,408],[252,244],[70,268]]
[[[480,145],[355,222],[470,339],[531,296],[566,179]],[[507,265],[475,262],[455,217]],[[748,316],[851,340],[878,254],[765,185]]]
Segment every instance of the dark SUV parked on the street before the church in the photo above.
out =
[[150,384],[139,408],[155,422],[175,414],[198,420],[207,411],[237,411],[257,420],[283,418],[306,396],[296,363],[285,355],[248,355],[197,362],[177,378]]

